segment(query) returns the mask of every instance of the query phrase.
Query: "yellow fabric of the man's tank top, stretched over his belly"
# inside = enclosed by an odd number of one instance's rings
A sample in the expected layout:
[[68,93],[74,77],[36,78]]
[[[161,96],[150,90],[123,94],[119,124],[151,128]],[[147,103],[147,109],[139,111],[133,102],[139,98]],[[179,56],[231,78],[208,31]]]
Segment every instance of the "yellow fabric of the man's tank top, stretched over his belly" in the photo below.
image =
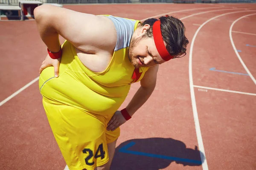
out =
[[[133,33],[140,21],[132,21]],[[100,73],[81,63],[69,41],[64,42],[62,50],[60,76],[54,78],[53,67],[44,69],[39,79],[41,94],[48,102],[72,105],[93,114],[113,114],[124,102],[131,84],[139,82],[148,70],[141,67],[135,71],[128,59],[128,46],[116,48],[108,67]]]

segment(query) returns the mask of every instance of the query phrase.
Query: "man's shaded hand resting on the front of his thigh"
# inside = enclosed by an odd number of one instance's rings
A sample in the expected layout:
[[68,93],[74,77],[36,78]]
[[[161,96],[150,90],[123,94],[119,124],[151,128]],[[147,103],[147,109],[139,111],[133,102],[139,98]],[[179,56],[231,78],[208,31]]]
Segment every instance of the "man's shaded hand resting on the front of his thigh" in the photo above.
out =
[[107,130],[113,131],[116,130],[117,127],[121,126],[126,122],[124,116],[122,116],[121,111],[116,111],[111,118],[111,120],[108,122]]

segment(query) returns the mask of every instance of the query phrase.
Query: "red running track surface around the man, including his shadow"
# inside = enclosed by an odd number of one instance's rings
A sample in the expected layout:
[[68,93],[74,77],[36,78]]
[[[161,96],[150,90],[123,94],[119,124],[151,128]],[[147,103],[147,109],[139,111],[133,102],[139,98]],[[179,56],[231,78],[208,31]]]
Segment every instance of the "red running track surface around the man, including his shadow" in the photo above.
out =
[[[169,12],[173,12],[170,15],[181,19],[191,14],[209,11],[182,20],[190,41],[187,55],[160,66],[157,87],[151,98],[130,121],[121,126],[121,136],[117,142],[111,168],[203,169],[202,165],[198,164],[122,153],[119,149],[130,142],[135,142],[136,144],[128,150],[201,160],[199,151],[195,149],[198,148],[198,139],[192,111],[193,95],[191,96],[189,86],[189,57],[192,57],[193,85],[256,94],[256,84],[250,76],[209,70],[215,68],[247,74],[231,45],[229,29],[232,22],[239,17],[256,13],[256,4],[118,4],[74,5],[64,8],[137,20]],[[191,10],[175,12],[186,9]],[[218,17],[201,28],[190,56],[192,38],[199,28],[194,24],[201,25],[212,17],[233,11],[242,12]],[[241,50],[241,59],[255,78],[256,60],[253,57],[256,47],[246,44],[256,46],[256,15],[239,20],[232,31],[254,34],[232,32],[236,49]],[[39,67],[47,53],[38,35],[35,21],[0,22],[0,36],[0,101],[3,101],[38,77]],[[128,104],[138,87],[139,83],[132,86],[121,108]],[[256,96],[197,87],[194,90],[194,106],[198,111],[208,168],[256,169]],[[1,170],[64,169],[66,164],[52,135],[41,98],[38,82],[35,82],[0,106]]]

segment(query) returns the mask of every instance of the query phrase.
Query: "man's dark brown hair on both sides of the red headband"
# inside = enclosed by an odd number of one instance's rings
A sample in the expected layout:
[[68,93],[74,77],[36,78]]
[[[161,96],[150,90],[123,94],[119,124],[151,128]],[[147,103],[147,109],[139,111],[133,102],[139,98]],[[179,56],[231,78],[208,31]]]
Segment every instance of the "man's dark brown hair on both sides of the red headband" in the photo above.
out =
[[[161,32],[163,36],[164,42],[166,42],[166,49],[174,58],[186,55],[186,46],[189,43],[189,40],[185,36],[185,26],[183,23],[175,18],[166,15],[166,17],[159,18],[161,22]],[[152,37],[153,36],[153,24],[157,19],[150,18],[145,20],[141,26],[145,24],[150,25],[150,28],[146,31],[145,36]],[[182,56],[182,57],[183,57]]]

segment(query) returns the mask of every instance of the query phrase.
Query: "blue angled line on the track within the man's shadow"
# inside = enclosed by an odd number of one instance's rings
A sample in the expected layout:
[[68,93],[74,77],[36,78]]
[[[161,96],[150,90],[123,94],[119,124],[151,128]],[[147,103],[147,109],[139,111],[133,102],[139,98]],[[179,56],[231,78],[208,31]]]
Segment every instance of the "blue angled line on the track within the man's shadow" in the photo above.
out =
[[140,156],[148,156],[148,157],[152,157],[152,158],[169,159],[169,160],[173,160],[173,161],[182,161],[182,162],[188,162],[188,163],[194,163],[194,164],[202,164],[202,161],[197,161],[197,160],[192,160],[192,159],[183,159],[183,158],[176,158],[176,157],[172,157],[172,156],[164,156],[164,155],[157,155],[157,154],[153,154],[153,153],[145,153],[145,152],[137,152],[137,151],[133,151],[133,150],[127,150],[129,147],[132,147],[134,144],[135,144],[135,142],[130,142],[130,143],[126,144],[125,146],[123,146],[119,149],[119,152],[130,153],[130,154],[140,155]]

